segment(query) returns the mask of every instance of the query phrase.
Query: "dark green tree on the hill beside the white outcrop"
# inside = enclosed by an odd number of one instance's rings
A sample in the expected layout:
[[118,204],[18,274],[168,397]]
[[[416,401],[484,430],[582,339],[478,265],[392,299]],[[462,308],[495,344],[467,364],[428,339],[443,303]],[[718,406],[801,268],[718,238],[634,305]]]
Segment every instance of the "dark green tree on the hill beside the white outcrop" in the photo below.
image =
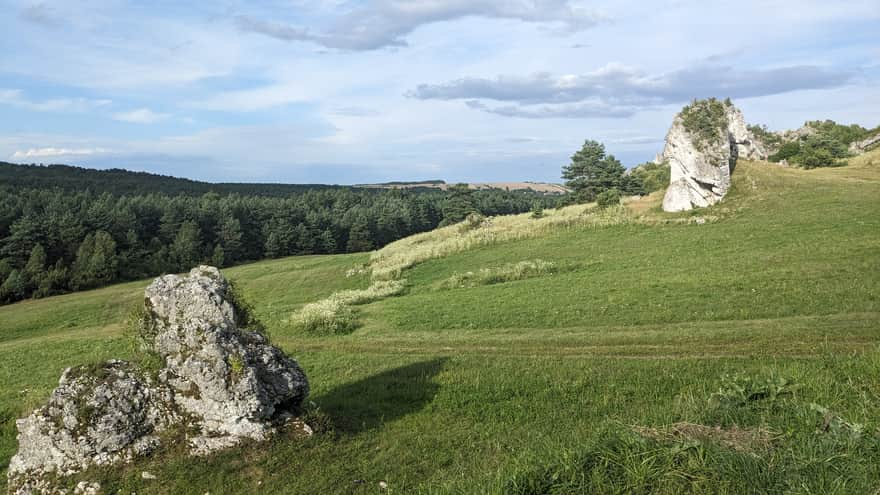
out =
[[562,178],[579,201],[595,201],[599,193],[617,189],[626,194],[643,194],[641,181],[624,175],[626,169],[614,155],[605,154],[605,145],[593,140],[571,157],[571,164],[562,168]]

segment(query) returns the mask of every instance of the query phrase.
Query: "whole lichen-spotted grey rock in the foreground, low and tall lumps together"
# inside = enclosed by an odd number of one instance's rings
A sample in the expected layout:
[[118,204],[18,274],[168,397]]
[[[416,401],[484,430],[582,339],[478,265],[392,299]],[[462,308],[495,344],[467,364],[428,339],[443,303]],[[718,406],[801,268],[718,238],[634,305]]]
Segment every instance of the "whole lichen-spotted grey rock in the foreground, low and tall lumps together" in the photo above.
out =
[[138,333],[158,369],[67,369],[48,403],[17,422],[12,493],[51,492],[58,476],[130,461],[163,436],[183,440],[169,430],[186,430],[190,452],[204,454],[263,440],[298,412],[305,374],[268,343],[216,268],[157,278],[145,296]]

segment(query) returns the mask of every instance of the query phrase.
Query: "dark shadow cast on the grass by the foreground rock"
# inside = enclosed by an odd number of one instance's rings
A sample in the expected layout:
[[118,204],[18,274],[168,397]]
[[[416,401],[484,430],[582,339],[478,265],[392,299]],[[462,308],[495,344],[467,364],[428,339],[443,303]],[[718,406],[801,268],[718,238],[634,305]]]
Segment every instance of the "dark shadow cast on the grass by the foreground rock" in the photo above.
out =
[[440,389],[446,358],[421,361],[341,385],[315,398],[341,433],[359,433],[421,410]]

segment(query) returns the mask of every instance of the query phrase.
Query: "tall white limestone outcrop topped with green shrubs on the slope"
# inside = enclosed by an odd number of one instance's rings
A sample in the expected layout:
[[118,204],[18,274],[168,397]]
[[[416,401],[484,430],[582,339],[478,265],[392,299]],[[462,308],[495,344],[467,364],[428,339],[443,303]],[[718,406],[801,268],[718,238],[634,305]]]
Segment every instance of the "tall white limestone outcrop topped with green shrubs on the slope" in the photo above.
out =
[[710,98],[684,107],[673,119],[658,157],[670,167],[663,210],[686,211],[720,201],[730,189],[739,156],[763,159],[767,152],[730,100]]

